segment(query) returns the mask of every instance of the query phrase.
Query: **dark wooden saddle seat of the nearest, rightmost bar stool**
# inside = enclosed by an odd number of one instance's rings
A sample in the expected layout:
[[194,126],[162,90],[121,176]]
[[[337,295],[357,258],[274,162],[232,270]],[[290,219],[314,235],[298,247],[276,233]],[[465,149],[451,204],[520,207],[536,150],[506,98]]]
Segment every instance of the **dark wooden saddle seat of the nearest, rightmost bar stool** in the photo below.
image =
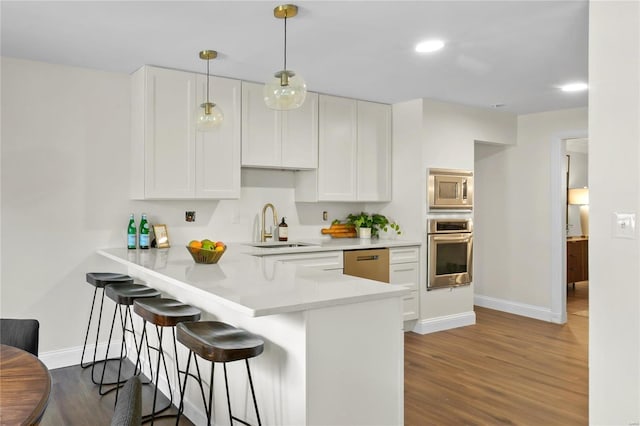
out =
[[180,343],[213,362],[253,358],[264,350],[260,337],[219,321],[181,322],[176,329]]

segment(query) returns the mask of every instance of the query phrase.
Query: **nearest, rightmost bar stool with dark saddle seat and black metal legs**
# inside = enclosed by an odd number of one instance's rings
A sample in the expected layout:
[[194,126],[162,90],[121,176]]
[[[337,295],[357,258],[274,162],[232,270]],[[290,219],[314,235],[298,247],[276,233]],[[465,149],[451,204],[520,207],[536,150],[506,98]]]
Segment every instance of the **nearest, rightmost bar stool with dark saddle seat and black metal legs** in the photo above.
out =
[[[189,365],[191,356],[193,355],[198,372],[198,382],[202,394],[202,402],[207,413],[207,423],[211,425],[211,414],[213,411],[213,370],[216,362],[221,362],[224,368],[224,384],[227,393],[227,407],[229,408],[229,421],[233,425],[236,420],[242,424],[249,425],[246,421],[235,417],[231,412],[231,400],[229,399],[229,381],[227,379],[227,363],[233,361],[244,360],[247,366],[247,375],[249,377],[249,386],[251,388],[251,396],[253,398],[253,406],[256,410],[258,425],[262,425],[260,421],[260,413],[258,412],[258,403],[256,394],[253,389],[253,380],[251,379],[251,368],[249,367],[249,358],[256,357],[264,350],[264,341],[255,334],[246,330],[233,327],[229,324],[218,321],[198,321],[198,322],[182,322],[176,326],[178,332],[178,341],[189,348],[189,357],[187,358],[186,374],[184,383],[180,392],[181,397],[187,387],[187,378],[189,374]],[[202,377],[200,376],[200,368],[198,367],[198,359],[195,355],[203,359],[211,361],[211,377],[209,382],[209,403],[205,401],[204,390],[202,389]],[[178,419],[182,414],[183,401],[180,401],[178,409]]]

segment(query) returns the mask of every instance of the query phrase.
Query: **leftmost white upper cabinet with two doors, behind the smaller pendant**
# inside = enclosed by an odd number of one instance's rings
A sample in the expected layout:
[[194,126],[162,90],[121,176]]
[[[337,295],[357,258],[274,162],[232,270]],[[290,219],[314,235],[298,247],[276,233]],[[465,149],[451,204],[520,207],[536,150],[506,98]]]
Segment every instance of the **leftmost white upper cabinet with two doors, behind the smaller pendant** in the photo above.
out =
[[240,197],[240,81],[211,77],[224,122],[196,132],[206,76],[145,66],[132,76],[132,197]]

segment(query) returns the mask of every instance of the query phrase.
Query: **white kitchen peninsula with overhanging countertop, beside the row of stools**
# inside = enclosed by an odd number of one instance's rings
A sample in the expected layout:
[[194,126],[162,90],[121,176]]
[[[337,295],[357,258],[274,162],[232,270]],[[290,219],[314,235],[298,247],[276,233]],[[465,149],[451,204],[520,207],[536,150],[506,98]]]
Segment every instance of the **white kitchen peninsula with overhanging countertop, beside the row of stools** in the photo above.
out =
[[[252,360],[264,424],[402,424],[402,297],[408,290],[269,262],[269,256],[259,255],[266,254],[264,250],[274,249],[230,244],[215,265],[195,264],[179,246],[98,253],[125,265],[138,282],[200,308],[203,319],[224,321],[264,338],[264,353]],[[183,366],[186,351],[181,349]],[[252,409],[246,408],[250,405],[244,367],[237,364],[229,365],[235,380],[232,404],[255,420]],[[220,376],[215,379],[216,395],[224,394]],[[227,423],[225,400],[215,399],[216,423]],[[204,417],[195,388],[188,390],[186,400],[186,414],[198,424]]]

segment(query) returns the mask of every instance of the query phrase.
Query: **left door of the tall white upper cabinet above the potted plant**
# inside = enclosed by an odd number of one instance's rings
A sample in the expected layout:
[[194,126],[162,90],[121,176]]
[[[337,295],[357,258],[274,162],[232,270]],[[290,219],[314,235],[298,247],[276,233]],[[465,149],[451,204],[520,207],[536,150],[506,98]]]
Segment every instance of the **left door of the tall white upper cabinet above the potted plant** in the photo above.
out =
[[318,200],[356,200],[357,106],[353,99],[320,95]]

